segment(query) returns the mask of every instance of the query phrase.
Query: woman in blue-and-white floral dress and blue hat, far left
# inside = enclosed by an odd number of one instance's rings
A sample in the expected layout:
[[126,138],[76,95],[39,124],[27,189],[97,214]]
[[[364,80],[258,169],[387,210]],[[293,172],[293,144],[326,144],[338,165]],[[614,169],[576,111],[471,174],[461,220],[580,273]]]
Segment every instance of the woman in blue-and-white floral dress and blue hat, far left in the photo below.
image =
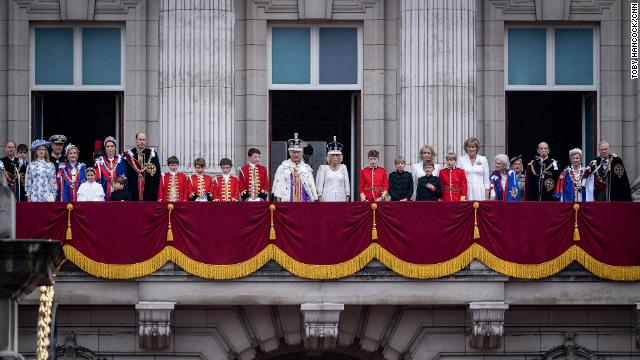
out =
[[31,143],[31,151],[35,151],[35,157],[27,166],[24,180],[28,201],[44,202],[56,199],[56,168],[49,161],[49,146],[51,143],[46,140],[35,140]]

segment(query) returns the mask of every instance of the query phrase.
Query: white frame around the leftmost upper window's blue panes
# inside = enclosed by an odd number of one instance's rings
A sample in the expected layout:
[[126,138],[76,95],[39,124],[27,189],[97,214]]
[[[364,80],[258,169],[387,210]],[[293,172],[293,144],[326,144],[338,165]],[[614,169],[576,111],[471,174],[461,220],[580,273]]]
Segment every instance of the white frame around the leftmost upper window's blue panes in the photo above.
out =
[[[70,28],[73,30],[73,84],[72,85],[38,85],[36,84],[36,29]],[[82,29],[112,28],[120,29],[120,85],[84,85],[82,83]],[[29,85],[33,91],[124,91],[126,39],[125,25],[114,23],[81,23],[81,24],[32,24],[29,28]]]

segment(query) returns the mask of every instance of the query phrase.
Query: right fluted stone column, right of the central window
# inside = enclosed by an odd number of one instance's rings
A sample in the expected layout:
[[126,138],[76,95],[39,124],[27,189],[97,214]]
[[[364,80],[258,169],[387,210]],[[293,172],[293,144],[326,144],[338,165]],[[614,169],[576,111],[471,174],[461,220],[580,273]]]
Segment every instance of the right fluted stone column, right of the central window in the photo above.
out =
[[444,162],[476,133],[475,0],[402,0],[401,153],[432,145]]

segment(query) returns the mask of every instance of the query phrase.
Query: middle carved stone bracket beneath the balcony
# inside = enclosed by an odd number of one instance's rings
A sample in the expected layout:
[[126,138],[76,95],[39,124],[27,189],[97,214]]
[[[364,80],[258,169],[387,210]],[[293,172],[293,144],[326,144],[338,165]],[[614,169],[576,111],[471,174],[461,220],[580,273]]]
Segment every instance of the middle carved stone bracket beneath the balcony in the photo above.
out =
[[304,323],[305,349],[321,351],[336,347],[342,310],[344,310],[344,304],[300,305]]

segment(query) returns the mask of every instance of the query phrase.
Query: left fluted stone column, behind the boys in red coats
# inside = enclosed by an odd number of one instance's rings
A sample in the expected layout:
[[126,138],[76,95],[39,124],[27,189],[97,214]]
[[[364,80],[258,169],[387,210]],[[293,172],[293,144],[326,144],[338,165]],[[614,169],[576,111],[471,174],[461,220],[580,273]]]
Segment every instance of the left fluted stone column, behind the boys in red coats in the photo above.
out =
[[163,0],[160,8],[160,151],[182,168],[233,159],[232,0]]

